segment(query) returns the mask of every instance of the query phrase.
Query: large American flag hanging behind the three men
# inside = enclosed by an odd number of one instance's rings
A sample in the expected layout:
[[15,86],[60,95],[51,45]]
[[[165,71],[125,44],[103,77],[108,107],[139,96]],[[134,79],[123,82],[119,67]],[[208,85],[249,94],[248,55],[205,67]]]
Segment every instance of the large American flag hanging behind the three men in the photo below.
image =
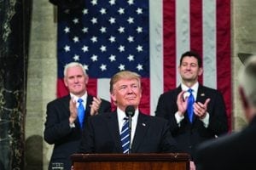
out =
[[143,77],[141,111],[154,115],[160,94],[180,83],[180,55],[203,59],[200,82],[224,94],[231,113],[230,0],[84,0],[58,11],[57,96],[68,94],[63,68],[78,61],[90,76],[88,91],[110,100],[118,71]]

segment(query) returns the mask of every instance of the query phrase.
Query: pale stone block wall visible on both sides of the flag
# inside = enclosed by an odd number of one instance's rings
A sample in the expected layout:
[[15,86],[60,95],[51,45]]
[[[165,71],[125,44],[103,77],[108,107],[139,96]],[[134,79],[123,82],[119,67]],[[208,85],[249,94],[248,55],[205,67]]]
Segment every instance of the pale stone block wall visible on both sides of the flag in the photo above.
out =
[[[241,61],[237,53],[254,53],[256,45],[256,1],[231,0],[232,2],[232,75],[233,75],[233,129],[240,130],[247,122],[241,111],[237,95],[237,71]],[[28,62],[28,81],[26,98],[26,141],[33,140],[41,144],[38,150],[32,150],[44,160],[42,169],[47,169],[51,146],[43,140],[46,104],[55,99],[56,78],[56,23],[55,9],[48,1],[33,1],[32,32]],[[26,155],[31,150],[26,150]],[[27,160],[27,164],[31,164]],[[40,169],[40,168],[38,168]]]

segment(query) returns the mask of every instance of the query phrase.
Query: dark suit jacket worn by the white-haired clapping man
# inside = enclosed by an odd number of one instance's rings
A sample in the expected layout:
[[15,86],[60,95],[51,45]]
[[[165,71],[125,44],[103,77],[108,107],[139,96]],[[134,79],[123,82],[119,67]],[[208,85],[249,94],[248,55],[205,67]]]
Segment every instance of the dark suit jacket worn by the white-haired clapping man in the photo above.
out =
[[[47,105],[47,117],[44,129],[44,140],[49,144],[55,144],[54,150],[49,162],[49,168],[52,162],[64,163],[64,169],[70,169],[70,155],[78,152],[81,140],[81,129],[78,120],[75,121],[75,127],[69,126],[69,100],[70,95],[55,99]],[[93,96],[88,95],[84,124],[90,116],[90,104]],[[111,104],[102,99],[99,113],[111,111]]]

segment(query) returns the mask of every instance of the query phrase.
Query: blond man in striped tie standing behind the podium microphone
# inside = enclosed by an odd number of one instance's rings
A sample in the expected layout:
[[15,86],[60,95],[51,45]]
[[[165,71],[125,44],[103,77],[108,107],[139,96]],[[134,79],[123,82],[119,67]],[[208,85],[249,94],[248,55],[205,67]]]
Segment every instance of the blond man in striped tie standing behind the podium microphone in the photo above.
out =
[[88,119],[80,145],[81,153],[126,153],[122,148],[120,133],[128,105],[135,108],[131,117],[130,153],[178,151],[168,122],[139,111],[142,87],[141,77],[137,73],[120,71],[115,74],[110,81],[110,93],[117,110]]

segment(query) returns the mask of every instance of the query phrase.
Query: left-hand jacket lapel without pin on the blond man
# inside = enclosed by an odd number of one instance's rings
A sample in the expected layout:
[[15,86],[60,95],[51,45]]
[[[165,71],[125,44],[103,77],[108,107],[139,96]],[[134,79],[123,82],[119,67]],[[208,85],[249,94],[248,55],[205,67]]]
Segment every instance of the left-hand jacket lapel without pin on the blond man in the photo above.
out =
[[119,134],[119,122],[117,118],[117,112],[112,112],[108,115],[108,127],[110,130],[110,134],[113,138],[114,145],[116,146],[116,150],[120,153],[123,152],[120,134]]

